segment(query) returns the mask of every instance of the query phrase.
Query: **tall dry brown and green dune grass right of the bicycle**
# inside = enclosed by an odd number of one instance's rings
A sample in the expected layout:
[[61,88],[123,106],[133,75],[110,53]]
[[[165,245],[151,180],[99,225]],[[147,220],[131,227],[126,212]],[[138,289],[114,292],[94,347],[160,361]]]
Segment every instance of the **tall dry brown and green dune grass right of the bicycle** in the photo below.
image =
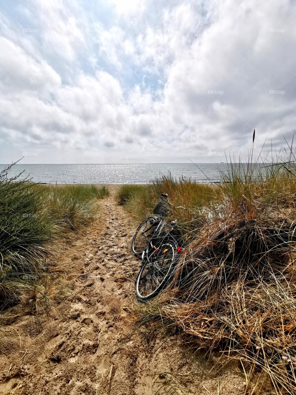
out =
[[168,193],[186,207],[172,216],[191,235],[172,284],[135,302],[138,323],[236,359],[246,393],[296,392],[296,158],[287,152],[273,163],[229,160],[218,186],[168,176],[124,201],[138,220]]

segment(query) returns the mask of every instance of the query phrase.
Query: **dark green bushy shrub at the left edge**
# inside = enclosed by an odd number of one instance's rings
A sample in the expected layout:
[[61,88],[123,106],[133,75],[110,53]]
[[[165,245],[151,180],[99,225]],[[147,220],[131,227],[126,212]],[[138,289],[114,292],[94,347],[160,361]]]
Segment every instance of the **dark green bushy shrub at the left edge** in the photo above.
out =
[[[12,165],[11,165],[12,166]],[[0,295],[14,292],[8,284],[36,277],[45,245],[52,241],[52,224],[43,215],[43,196],[27,180],[0,173]]]

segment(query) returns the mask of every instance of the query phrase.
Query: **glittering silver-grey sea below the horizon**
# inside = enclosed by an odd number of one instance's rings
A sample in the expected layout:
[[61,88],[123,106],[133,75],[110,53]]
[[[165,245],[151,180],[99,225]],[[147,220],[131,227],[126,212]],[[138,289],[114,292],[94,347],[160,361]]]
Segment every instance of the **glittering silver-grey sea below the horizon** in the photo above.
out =
[[[6,165],[0,165],[0,171]],[[15,164],[10,176],[51,184],[148,184],[161,175],[184,177],[198,183],[219,182],[216,163],[154,164]]]

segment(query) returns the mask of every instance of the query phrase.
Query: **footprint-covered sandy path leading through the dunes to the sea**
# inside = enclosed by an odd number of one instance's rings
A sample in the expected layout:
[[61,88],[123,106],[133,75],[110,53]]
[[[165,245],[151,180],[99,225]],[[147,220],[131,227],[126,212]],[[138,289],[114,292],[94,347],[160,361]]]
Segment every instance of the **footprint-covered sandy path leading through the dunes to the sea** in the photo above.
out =
[[[134,226],[113,196],[100,205],[103,220],[64,248],[56,262],[56,269],[66,271],[61,286],[71,296],[47,314],[17,316],[16,306],[0,317],[0,394],[150,395],[170,372],[203,376],[193,352],[175,337],[163,342],[144,329],[133,334],[129,306],[139,266],[130,250]],[[212,369],[204,378],[207,391],[195,387],[194,393],[217,393],[217,376]],[[232,380],[231,387],[241,380],[233,369],[224,378]]]

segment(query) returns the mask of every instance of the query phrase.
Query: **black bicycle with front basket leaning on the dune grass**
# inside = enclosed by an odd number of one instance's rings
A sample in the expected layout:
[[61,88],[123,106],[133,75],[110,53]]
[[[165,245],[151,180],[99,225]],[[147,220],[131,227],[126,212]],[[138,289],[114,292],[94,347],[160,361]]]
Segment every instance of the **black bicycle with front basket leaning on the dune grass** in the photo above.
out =
[[[136,296],[147,301],[169,283],[177,266],[177,254],[182,254],[184,241],[177,221],[166,222],[172,206],[167,194],[160,194],[153,216],[138,227],[132,241],[135,256],[142,260],[136,279]],[[185,209],[182,206],[176,208]]]

